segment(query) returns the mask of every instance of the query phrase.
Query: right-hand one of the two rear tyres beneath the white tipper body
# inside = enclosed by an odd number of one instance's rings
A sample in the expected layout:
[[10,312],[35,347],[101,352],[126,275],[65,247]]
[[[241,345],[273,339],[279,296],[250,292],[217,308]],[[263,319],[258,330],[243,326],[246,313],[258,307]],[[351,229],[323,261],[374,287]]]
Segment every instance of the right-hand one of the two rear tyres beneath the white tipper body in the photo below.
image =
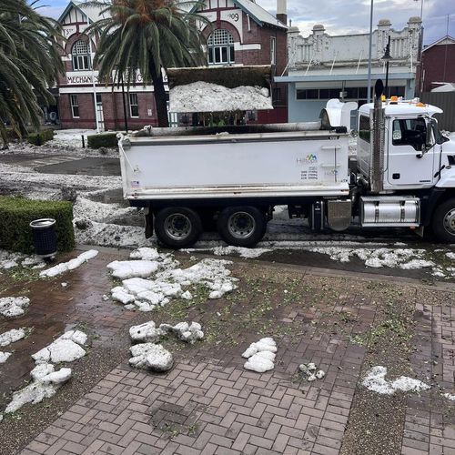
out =
[[217,219],[218,234],[234,247],[254,247],[266,229],[266,217],[257,207],[227,207]]

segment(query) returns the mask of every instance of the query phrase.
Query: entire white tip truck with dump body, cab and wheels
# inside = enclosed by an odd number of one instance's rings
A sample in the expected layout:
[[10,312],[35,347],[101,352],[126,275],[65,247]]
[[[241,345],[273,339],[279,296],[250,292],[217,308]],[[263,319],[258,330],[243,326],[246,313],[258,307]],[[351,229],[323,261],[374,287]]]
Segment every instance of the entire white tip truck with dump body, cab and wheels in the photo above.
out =
[[119,140],[124,197],[145,207],[147,235],[186,248],[216,224],[252,247],[275,206],[319,231],[431,227],[455,242],[455,143],[441,110],[395,97],[359,108],[357,170],[349,170],[350,111],[329,100],[311,124],[151,128]]

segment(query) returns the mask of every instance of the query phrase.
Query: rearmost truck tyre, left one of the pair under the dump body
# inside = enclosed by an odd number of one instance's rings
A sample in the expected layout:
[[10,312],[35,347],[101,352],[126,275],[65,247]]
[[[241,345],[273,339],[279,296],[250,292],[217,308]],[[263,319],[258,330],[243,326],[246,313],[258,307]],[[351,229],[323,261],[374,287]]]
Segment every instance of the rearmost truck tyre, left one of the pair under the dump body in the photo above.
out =
[[157,213],[155,233],[158,240],[169,248],[187,248],[201,235],[202,223],[191,208],[167,207]]

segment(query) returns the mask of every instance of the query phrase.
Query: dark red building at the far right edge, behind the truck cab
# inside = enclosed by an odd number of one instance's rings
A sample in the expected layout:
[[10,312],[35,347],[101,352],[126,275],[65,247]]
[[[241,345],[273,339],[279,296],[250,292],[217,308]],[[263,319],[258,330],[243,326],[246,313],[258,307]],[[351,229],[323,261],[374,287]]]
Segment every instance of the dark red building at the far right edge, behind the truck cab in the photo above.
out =
[[444,36],[423,48],[418,76],[418,92],[455,83],[455,38]]

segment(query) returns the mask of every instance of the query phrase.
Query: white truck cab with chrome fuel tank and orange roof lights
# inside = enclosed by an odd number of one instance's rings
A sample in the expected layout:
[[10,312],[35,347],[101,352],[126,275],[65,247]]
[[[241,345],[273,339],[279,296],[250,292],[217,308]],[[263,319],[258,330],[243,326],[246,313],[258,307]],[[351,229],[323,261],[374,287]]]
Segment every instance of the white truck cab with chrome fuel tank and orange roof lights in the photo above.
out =
[[396,96],[360,106],[362,227],[432,227],[455,241],[455,143],[440,133],[433,116],[441,112]]

